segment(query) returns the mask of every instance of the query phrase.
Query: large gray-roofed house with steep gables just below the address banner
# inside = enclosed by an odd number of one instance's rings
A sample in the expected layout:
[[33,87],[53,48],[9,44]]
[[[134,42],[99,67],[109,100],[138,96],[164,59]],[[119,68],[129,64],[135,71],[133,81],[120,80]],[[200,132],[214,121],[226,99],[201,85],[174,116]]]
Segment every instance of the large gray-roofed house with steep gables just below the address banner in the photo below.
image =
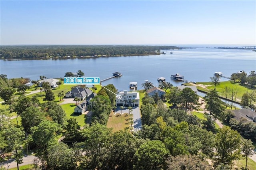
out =
[[71,91],[68,91],[65,94],[65,97],[73,97],[73,98],[78,97],[80,100],[84,100],[90,94],[92,94],[92,91],[90,89],[75,87]]

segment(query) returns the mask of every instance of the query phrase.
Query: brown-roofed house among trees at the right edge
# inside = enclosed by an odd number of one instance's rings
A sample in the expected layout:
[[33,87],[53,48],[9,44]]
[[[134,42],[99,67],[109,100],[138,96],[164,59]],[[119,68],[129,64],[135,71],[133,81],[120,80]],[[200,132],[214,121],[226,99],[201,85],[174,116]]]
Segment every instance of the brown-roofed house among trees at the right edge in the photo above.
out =
[[241,118],[247,119],[248,121],[256,122],[256,113],[250,109],[238,109],[232,111],[235,114],[235,119],[239,120]]

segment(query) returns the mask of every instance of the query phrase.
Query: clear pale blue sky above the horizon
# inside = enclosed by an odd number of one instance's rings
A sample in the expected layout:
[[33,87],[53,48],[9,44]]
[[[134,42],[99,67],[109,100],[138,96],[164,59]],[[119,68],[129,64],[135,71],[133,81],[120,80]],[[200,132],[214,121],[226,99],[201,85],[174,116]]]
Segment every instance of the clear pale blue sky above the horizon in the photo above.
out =
[[0,0],[0,45],[256,44],[256,1]]

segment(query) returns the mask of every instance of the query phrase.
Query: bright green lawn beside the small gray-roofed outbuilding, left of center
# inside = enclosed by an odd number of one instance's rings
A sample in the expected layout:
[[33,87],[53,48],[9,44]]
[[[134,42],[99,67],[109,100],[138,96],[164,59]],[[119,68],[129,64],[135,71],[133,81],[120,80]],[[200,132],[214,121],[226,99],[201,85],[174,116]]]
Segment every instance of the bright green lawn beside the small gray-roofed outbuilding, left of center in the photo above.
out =
[[81,127],[85,125],[86,115],[83,115],[83,114],[76,115],[74,113],[74,109],[76,107],[75,104],[69,103],[69,104],[61,105],[61,107],[66,112],[67,119],[70,119],[71,117],[73,117],[76,119],[76,121],[78,121],[78,125],[80,125]]

